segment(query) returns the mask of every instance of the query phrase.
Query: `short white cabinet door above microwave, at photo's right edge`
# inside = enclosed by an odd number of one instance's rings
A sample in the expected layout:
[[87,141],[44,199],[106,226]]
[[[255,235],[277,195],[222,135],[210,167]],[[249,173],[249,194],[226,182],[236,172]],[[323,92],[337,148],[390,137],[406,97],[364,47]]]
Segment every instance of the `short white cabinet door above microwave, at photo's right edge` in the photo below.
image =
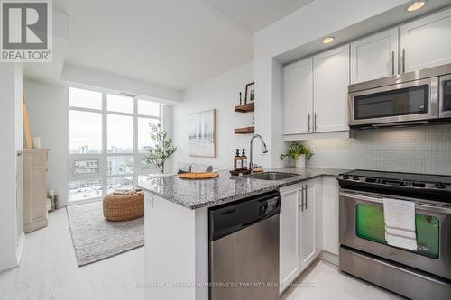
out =
[[451,10],[400,26],[400,72],[451,63]]

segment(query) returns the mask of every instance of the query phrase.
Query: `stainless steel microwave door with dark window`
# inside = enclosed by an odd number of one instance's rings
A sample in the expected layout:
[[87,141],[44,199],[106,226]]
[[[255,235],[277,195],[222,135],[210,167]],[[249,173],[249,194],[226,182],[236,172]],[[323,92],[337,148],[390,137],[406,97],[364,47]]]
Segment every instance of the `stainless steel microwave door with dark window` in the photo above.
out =
[[438,77],[349,93],[349,125],[438,118]]

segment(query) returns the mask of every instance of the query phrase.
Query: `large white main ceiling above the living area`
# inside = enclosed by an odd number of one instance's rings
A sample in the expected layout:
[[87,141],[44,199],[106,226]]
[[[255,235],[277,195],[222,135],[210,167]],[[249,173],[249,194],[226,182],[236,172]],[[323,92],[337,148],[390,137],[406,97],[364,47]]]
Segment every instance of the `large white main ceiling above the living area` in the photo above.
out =
[[311,1],[53,0],[69,40],[25,76],[64,84],[65,64],[183,90],[252,60],[253,32]]

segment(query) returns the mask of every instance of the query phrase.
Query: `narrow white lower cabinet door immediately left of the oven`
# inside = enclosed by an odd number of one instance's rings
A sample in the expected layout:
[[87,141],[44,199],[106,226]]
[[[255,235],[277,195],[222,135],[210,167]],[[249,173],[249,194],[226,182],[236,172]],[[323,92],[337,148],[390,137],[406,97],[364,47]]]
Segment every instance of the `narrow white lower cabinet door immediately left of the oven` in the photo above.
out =
[[323,250],[338,255],[338,180],[323,178]]

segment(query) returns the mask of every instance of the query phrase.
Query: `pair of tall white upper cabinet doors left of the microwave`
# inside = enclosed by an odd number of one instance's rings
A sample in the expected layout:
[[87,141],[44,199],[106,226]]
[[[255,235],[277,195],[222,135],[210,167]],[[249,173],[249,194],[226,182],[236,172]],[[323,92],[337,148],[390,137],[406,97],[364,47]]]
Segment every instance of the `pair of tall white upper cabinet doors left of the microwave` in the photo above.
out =
[[284,134],[347,131],[349,45],[283,68]]

